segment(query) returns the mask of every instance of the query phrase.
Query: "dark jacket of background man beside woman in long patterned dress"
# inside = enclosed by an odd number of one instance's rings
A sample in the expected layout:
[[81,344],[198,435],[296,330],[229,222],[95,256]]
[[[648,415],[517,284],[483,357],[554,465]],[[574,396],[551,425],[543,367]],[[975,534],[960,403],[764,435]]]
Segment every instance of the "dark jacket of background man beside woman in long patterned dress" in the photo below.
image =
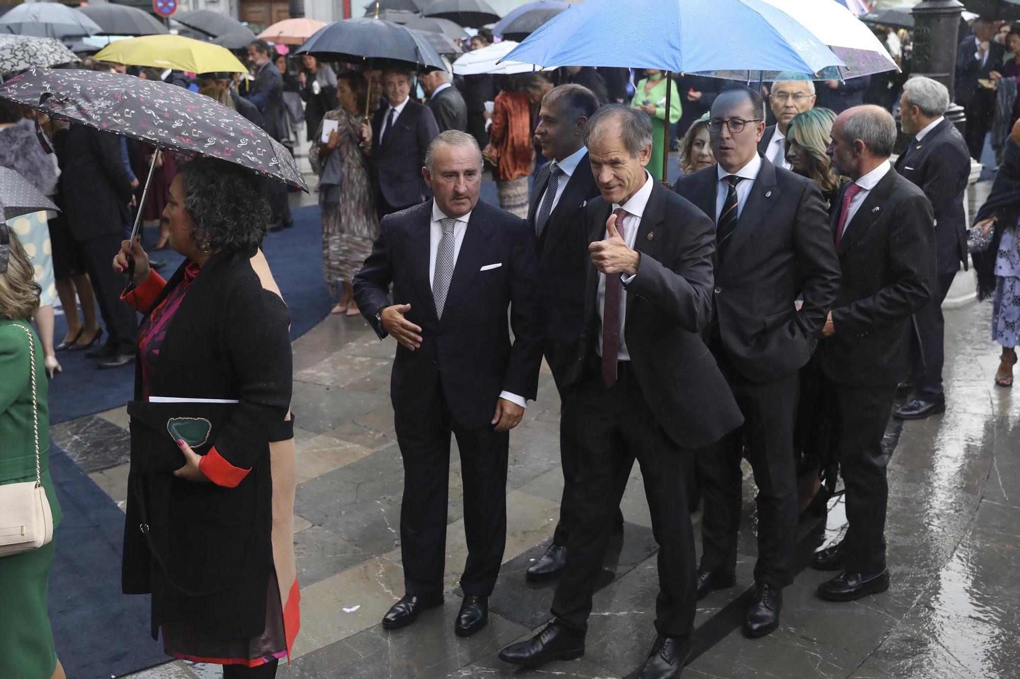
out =
[[389,112],[382,107],[372,115],[372,165],[376,186],[382,198],[394,207],[421,202],[428,188],[421,176],[428,144],[440,134],[436,117],[427,106],[408,101],[393,129],[386,130],[379,144],[379,130]]

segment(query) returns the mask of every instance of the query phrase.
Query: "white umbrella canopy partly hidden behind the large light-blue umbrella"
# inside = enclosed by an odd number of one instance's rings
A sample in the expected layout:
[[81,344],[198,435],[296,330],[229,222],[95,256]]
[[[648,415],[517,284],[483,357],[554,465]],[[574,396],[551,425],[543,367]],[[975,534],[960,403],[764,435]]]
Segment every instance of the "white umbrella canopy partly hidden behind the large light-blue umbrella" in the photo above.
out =
[[789,14],[843,59],[847,68],[839,67],[839,80],[900,69],[885,47],[871,33],[871,29],[838,2],[804,2],[804,0],[765,0],[765,2]]

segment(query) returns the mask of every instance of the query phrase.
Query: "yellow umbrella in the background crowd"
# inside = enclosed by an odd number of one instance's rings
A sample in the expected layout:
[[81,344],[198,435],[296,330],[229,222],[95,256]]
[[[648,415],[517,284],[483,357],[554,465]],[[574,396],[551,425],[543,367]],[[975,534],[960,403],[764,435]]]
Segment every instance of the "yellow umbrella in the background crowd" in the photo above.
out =
[[191,73],[248,72],[248,68],[225,47],[184,36],[142,36],[118,40],[104,47],[93,58],[126,66],[174,68]]

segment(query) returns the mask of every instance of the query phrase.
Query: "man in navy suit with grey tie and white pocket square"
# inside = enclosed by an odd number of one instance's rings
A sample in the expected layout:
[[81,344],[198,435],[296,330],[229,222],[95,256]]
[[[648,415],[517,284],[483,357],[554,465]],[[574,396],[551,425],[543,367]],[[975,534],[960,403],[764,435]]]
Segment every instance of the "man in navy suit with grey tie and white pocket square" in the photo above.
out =
[[527,222],[478,201],[481,151],[473,137],[440,134],[422,173],[435,199],[384,218],[354,278],[361,313],[379,337],[392,334],[399,343],[390,390],[404,458],[406,593],[382,625],[409,625],[443,603],[453,432],[468,545],[455,631],[468,636],[489,620],[503,560],[508,431],[538,390],[539,271]]

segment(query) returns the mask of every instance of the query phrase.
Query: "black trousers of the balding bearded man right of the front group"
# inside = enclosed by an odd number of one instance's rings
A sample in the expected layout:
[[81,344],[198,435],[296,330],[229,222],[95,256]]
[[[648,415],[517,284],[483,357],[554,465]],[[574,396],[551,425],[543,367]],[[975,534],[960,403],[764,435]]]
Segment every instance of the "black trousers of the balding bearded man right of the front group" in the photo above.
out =
[[847,487],[846,569],[878,573],[885,568],[888,501],[888,457],[882,452],[882,437],[897,387],[848,386],[825,378],[824,389]]

